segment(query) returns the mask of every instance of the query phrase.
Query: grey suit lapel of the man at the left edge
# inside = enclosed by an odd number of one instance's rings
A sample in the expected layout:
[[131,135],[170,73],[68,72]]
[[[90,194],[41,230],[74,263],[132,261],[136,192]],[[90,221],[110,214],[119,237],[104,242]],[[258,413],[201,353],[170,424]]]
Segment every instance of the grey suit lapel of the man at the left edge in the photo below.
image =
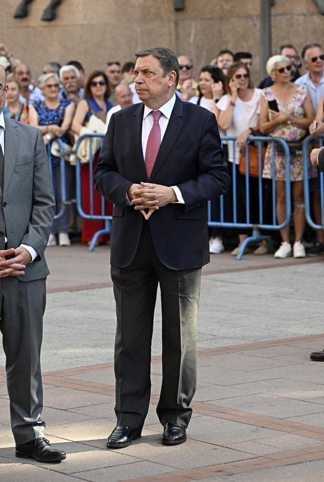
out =
[[[20,133],[17,125],[9,119],[4,118],[4,176],[3,176],[3,198],[6,195],[11,176],[14,171],[14,164],[19,147]],[[1,193],[2,194],[2,193]]]

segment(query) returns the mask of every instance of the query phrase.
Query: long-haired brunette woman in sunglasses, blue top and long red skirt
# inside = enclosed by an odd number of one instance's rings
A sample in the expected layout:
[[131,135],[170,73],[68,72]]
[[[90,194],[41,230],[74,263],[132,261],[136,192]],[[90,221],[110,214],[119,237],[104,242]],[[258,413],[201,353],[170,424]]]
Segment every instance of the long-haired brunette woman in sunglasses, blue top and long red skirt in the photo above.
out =
[[[72,122],[72,131],[79,135],[81,128],[85,126],[92,115],[95,115],[104,123],[106,122],[107,112],[112,104],[109,102],[109,83],[105,72],[95,70],[90,74],[84,88],[84,99],[82,99],[76,109]],[[105,132],[105,131],[103,131]],[[93,153],[93,170],[90,172],[89,164],[81,165],[81,187],[82,187],[82,208],[86,214],[90,214],[90,183],[94,174],[94,169],[98,162],[99,151]],[[93,190],[93,209],[94,214],[101,215],[101,196]],[[105,214],[112,213],[112,204],[105,202]],[[82,220],[81,241],[90,244],[94,233],[104,229],[104,221],[94,219]],[[98,243],[108,241],[108,236],[101,236]]]

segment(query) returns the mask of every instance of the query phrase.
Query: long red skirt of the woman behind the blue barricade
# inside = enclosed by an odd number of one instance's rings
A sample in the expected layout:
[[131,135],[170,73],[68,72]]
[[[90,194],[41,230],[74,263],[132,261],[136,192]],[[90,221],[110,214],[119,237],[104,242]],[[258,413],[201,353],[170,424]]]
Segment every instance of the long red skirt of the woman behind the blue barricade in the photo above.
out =
[[[81,165],[81,190],[82,190],[82,209],[85,214],[90,214],[90,182],[92,182],[94,176],[94,169],[98,163],[99,154],[95,154],[93,161],[93,172],[91,173],[90,179],[90,168],[89,164]],[[101,195],[93,189],[94,196],[94,211],[93,214],[101,215]],[[105,215],[111,216],[112,214],[112,203],[105,200]],[[94,237],[94,234],[100,229],[105,228],[105,222],[97,219],[83,219],[82,221],[82,232],[81,241],[89,242]],[[110,239],[110,235],[100,236],[98,239],[99,243],[107,242]]]

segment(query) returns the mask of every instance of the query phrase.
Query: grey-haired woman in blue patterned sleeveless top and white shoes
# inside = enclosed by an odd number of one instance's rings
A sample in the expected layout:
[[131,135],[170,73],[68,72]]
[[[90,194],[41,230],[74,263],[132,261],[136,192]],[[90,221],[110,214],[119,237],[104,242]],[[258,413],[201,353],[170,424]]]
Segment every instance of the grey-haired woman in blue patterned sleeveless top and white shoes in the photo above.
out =
[[[45,144],[55,138],[61,139],[72,146],[68,130],[71,127],[75,110],[74,103],[69,99],[59,98],[59,79],[56,74],[43,74],[39,78],[39,86],[45,100],[36,101],[29,105],[29,123],[40,129]],[[65,162],[66,172],[66,195],[69,199],[70,185],[74,175],[74,168],[69,162]],[[52,182],[55,194],[55,213],[61,210],[61,179],[59,159],[52,156]],[[63,216],[53,223],[50,239],[47,246],[55,246],[56,228],[60,246],[70,246],[68,237],[68,225],[70,219],[70,207],[67,205]]]

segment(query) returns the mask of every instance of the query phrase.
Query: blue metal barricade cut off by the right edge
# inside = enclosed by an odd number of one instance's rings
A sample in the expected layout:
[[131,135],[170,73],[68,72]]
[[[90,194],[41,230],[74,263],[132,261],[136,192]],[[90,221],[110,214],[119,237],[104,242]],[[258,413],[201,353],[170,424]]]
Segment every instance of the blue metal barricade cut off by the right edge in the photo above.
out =
[[[305,197],[305,217],[306,222],[311,226],[313,229],[324,229],[324,174],[319,173],[320,175],[320,195],[321,195],[321,224],[317,224],[311,218],[311,199],[310,199],[310,185],[309,185],[309,163],[310,163],[310,153],[309,147],[312,141],[316,141],[319,144],[319,147],[323,147],[324,143],[324,136],[313,136],[309,135],[306,137],[304,141],[304,197]],[[317,189],[316,189],[317,190]]]

